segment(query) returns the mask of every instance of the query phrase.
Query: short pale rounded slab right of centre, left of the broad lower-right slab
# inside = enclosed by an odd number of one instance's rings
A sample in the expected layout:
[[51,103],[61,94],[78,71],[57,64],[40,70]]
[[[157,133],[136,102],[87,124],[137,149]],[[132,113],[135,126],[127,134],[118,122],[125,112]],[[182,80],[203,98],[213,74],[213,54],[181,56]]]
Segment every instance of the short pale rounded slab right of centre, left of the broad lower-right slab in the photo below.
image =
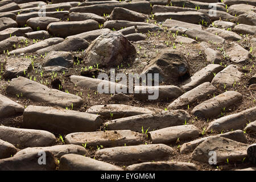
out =
[[193,125],[180,125],[166,127],[160,130],[154,130],[148,132],[153,143],[165,143],[170,144],[179,140],[187,140],[199,137],[200,130]]

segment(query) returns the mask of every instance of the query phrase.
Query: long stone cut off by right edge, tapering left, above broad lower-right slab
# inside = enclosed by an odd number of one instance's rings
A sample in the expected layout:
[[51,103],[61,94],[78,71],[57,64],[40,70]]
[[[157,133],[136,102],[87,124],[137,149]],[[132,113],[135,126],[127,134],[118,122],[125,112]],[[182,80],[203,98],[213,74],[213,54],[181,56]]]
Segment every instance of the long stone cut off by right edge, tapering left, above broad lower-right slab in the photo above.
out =
[[250,109],[241,111],[240,113],[227,115],[220,119],[215,119],[209,123],[207,131],[211,129],[215,131],[243,129],[246,126],[246,123],[256,120],[255,113],[256,107],[252,107]]

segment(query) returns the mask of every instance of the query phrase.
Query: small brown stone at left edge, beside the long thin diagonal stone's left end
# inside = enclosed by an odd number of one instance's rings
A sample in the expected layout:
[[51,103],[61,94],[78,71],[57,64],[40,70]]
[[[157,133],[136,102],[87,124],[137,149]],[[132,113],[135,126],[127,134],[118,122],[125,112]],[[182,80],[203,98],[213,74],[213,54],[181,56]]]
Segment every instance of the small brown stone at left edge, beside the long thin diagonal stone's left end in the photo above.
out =
[[24,38],[23,36],[12,36],[0,42],[0,50],[11,51],[15,49],[16,45],[18,45],[21,41],[25,41],[25,40],[26,38]]

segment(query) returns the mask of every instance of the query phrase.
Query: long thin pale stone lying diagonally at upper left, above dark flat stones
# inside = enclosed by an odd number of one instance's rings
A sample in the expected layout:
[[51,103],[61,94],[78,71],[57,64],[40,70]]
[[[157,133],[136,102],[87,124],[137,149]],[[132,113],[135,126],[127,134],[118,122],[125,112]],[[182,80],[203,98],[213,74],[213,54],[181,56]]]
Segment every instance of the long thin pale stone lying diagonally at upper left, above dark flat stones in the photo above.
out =
[[42,40],[38,43],[32,44],[30,46],[27,47],[23,47],[23,48],[19,48],[19,49],[15,49],[13,51],[10,52],[10,55],[19,55],[20,53],[32,53],[32,52],[36,52],[39,49],[43,49],[46,47],[50,47],[52,45],[55,44],[59,44],[61,42],[63,42],[64,39],[63,38],[49,38],[46,40]]

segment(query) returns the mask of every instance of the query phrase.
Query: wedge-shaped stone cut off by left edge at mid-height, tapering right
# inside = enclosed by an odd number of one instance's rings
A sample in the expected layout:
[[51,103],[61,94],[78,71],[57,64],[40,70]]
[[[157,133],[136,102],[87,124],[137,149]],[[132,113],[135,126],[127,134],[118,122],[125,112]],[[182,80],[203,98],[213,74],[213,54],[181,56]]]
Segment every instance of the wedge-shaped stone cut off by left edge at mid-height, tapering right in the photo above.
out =
[[22,115],[24,107],[0,94],[0,118]]

